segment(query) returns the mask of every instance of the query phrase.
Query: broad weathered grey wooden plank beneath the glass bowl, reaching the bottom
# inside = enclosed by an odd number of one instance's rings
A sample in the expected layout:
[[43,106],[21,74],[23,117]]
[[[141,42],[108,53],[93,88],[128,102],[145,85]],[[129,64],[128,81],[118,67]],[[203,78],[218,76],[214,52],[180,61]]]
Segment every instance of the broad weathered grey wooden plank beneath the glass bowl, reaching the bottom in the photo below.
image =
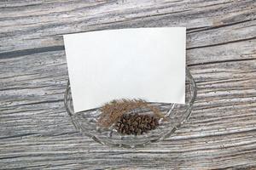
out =
[[[68,119],[62,100],[67,82],[64,53],[24,58],[2,59],[9,65],[1,72],[20,65],[1,79],[0,159],[5,167],[147,169],[151,161],[163,168],[255,166],[256,62],[252,60],[190,66],[198,98],[190,121],[177,136],[138,150],[109,150],[76,133]],[[15,164],[9,165],[12,161]]]

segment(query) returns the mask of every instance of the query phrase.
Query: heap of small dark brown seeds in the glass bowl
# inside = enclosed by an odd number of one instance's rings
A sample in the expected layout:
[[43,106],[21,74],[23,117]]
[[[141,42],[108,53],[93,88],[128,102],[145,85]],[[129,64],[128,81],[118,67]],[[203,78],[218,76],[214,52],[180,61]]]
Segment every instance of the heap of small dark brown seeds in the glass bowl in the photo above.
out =
[[123,134],[143,134],[159,125],[159,118],[152,115],[124,114],[115,127]]

